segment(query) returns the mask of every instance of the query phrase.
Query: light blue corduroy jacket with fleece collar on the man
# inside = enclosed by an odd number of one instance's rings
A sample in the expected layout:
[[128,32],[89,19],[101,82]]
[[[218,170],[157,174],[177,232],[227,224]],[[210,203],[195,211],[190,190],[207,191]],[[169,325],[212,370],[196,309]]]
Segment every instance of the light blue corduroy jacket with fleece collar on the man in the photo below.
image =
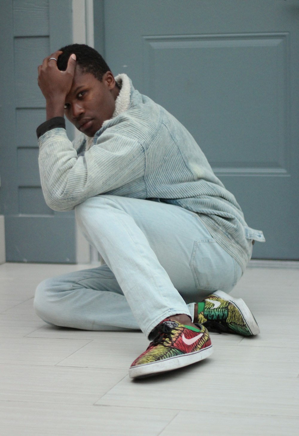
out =
[[127,76],[120,76],[119,82],[129,86],[128,105],[104,122],[91,144],[82,136],[72,143],[63,128],[39,138],[46,203],[68,211],[87,198],[112,194],[181,206],[199,214],[244,271],[251,241],[263,242],[262,232],[247,226],[235,197],[215,176],[188,130],[135,90]]

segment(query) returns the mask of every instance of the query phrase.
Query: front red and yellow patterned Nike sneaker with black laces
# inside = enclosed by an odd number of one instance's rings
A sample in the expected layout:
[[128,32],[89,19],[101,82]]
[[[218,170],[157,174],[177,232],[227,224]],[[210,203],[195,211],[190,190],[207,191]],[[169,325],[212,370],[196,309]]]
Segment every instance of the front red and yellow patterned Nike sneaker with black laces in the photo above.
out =
[[187,327],[166,319],[154,330],[154,339],[129,369],[130,378],[171,371],[209,357],[213,350],[208,330],[195,324]]

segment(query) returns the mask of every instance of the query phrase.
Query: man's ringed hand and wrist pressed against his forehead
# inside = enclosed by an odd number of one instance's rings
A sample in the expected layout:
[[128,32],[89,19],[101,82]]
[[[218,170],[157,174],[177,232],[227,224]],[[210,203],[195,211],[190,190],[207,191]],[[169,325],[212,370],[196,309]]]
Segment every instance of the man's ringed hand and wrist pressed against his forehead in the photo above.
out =
[[57,68],[56,60],[61,53],[55,51],[38,66],[38,86],[46,99],[47,119],[63,116],[66,95],[70,92],[75,74],[75,54],[70,55],[66,71]]

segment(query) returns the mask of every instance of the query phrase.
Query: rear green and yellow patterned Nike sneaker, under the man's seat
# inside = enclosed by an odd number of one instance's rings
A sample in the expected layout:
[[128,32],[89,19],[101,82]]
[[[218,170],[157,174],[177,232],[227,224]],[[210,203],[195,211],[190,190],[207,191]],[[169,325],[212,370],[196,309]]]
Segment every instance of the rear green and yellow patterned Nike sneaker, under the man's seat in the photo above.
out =
[[198,323],[210,331],[253,336],[260,333],[257,322],[241,298],[216,291],[198,303]]

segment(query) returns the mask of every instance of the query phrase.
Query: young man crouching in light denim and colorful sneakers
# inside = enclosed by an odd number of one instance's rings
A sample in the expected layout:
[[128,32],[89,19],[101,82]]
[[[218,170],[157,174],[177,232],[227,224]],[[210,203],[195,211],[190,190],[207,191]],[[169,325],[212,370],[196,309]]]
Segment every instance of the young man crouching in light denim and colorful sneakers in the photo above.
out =
[[[45,201],[75,209],[105,262],[42,282],[38,315],[85,330],[141,329],[152,342],[132,363],[132,378],[207,358],[207,326],[258,334],[246,304],[227,292],[263,234],[247,227],[191,134],[86,45],[45,58],[38,84]],[[64,115],[82,133],[74,143]]]

